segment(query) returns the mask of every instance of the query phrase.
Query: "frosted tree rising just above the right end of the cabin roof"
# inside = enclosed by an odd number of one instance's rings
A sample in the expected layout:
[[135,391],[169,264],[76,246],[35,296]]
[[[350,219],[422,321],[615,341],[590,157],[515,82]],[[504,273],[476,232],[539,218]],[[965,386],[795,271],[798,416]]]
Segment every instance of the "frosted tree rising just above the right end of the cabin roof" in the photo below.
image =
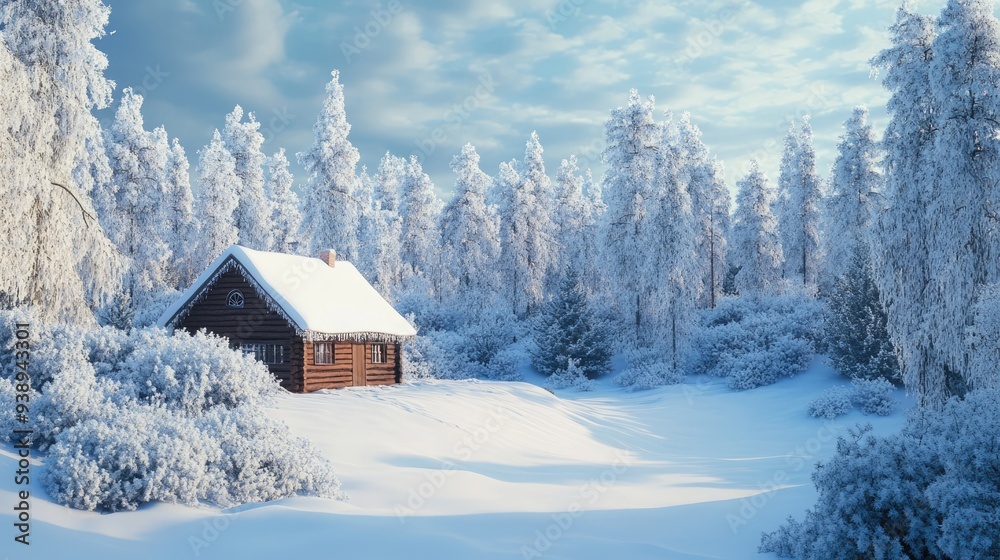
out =
[[411,284],[425,283],[426,288],[432,291],[436,285],[435,271],[440,256],[438,221],[441,207],[430,177],[424,173],[416,156],[411,156],[399,195],[403,280]]

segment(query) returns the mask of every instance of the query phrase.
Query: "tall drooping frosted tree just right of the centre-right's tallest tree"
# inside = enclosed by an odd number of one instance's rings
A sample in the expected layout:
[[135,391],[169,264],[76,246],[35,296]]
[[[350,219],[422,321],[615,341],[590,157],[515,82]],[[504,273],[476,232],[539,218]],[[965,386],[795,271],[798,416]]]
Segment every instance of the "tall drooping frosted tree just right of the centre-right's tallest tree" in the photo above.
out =
[[679,131],[669,115],[660,129],[655,182],[647,206],[647,268],[642,274],[652,283],[650,303],[656,310],[652,321],[663,361],[678,371],[688,352],[704,279],[696,252],[695,215],[684,184],[687,174]]

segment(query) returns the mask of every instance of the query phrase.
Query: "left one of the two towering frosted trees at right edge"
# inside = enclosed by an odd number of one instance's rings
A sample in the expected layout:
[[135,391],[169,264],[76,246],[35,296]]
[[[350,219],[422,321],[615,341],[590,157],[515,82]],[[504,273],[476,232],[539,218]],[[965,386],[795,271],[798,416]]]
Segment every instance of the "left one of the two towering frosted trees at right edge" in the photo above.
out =
[[922,401],[934,402],[947,393],[934,355],[934,332],[925,323],[931,283],[924,220],[932,189],[927,161],[936,134],[930,82],[935,22],[904,4],[890,31],[892,45],[871,61],[891,93],[891,118],[882,140],[887,208],[876,217],[872,257],[903,381]]

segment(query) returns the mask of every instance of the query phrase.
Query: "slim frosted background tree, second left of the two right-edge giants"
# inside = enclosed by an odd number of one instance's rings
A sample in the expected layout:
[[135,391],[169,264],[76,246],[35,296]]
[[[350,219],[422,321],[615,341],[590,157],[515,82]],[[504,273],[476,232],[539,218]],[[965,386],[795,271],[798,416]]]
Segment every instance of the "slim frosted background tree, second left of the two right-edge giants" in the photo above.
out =
[[812,145],[809,117],[803,117],[802,125],[797,130],[793,127],[789,134],[794,134],[795,138],[786,141],[789,151],[782,158],[782,176],[778,181],[783,193],[779,218],[785,278],[805,287],[815,287],[822,263],[820,208],[823,194],[816,175],[816,151]]

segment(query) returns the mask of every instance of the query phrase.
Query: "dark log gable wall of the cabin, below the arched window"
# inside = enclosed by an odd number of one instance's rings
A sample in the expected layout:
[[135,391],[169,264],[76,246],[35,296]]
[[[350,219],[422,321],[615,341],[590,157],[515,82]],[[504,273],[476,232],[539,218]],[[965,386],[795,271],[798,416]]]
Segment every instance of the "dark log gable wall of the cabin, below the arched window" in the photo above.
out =
[[[231,290],[243,292],[245,303],[242,309],[226,305]],[[227,337],[230,345],[238,347],[244,342],[264,342],[281,344],[285,347],[285,363],[269,364],[268,367],[281,385],[290,391],[302,391],[301,365],[292,375],[293,344],[299,339],[295,330],[281,316],[271,311],[254,287],[238,270],[230,270],[222,275],[205,297],[191,307],[191,311],[177,323],[177,328],[190,332],[206,329]],[[301,359],[301,342],[298,342]]]

